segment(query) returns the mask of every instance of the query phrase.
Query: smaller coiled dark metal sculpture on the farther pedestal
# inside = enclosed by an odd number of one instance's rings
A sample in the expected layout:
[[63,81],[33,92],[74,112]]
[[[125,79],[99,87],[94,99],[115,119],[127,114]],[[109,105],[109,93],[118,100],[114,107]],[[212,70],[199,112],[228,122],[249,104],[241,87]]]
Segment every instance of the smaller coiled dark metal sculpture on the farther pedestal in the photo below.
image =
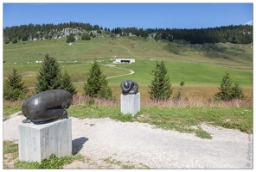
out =
[[138,83],[126,79],[121,83],[123,95],[136,95],[138,93]]

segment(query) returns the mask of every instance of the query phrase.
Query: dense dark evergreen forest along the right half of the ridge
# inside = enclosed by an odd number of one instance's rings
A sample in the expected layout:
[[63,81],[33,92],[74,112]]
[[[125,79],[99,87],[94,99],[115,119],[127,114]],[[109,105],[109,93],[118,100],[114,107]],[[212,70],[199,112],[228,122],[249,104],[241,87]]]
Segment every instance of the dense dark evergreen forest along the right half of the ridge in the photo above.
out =
[[132,33],[137,36],[148,37],[149,34],[156,33],[155,40],[186,40],[191,44],[203,43],[253,43],[253,26],[239,25],[227,26],[220,28],[201,28],[201,29],[179,29],[179,28],[113,28],[112,33],[126,36],[127,33]]

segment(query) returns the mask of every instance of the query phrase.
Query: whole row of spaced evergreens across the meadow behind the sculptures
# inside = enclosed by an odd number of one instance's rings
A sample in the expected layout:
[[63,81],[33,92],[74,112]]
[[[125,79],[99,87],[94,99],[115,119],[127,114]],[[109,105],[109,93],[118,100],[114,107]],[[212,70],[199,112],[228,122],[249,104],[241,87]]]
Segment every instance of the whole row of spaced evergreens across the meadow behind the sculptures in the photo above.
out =
[[[168,71],[164,65],[164,62],[157,62],[156,70],[152,70],[153,80],[150,87],[150,99],[154,101],[167,101],[172,95],[173,89],[171,88],[170,77]],[[71,77],[67,71],[61,74],[60,66],[55,58],[49,57],[46,54],[42,68],[39,74],[36,76],[37,83],[35,83],[35,94],[49,89],[65,89],[72,95],[76,95],[77,91],[74,84],[71,82]],[[184,82],[180,84],[184,85]],[[90,70],[87,81],[84,84],[84,95],[91,98],[100,99],[113,99],[112,89],[109,88],[106,80],[106,75],[100,70],[99,63],[94,60]],[[233,83],[226,72],[222,78],[220,92],[214,95],[215,100],[218,101],[231,101],[233,99],[244,99],[243,90],[240,87],[240,83]],[[16,101],[22,99],[29,92],[28,87],[22,82],[22,76],[17,73],[16,69],[13,69],[13,73],[4,82],[3,98],[10,101]],[[181,94],[176,95],[176,100],[181,97]]]

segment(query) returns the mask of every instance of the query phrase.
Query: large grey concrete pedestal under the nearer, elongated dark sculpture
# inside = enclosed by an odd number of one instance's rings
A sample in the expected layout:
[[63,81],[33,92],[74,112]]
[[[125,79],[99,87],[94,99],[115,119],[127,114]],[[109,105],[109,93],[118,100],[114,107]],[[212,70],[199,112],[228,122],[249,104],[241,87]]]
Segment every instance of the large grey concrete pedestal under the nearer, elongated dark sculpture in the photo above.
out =
[[72,155],[71,119],[46,124],[21,123],[18,125],[19,160],[41,162],[54,154],[56,157]]

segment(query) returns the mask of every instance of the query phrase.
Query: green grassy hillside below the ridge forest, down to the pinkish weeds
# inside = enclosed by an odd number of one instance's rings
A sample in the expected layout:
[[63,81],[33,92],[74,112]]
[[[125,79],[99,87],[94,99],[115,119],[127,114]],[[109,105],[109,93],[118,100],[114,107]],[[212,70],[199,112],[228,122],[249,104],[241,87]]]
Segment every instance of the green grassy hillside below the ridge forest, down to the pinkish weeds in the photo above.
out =
[[[157,60],[165,62],[175,92],[183,81],[183,95],[202,97],[214,94],[225,71],[228,71],[234,80],[240,82],[246,96],[253,96],[253,46],[230,43],[190,45],[182,40],[170,43],[141,37],[76,40],[72,46],[67,45],[66,39],[10,43],[3,45],[3,78],[15,67],[22,73],[26,85],[34,87],[42,65],[35,61],[40,61],[46,53],[60,60],[61,69],[67,69],[80,94],[91,61],[96,58],[100,64],[113,64],[111,58],[115,55],[116,58],[136,59],[134,64],[101,65],[106,77],[112,77],[108,82],[117,97],[121,93],[119,84],[130,78],[138,82],[143,98],[148,98],[150,73]],[[127,70],[135,73],[114,77],[129,74]]]

